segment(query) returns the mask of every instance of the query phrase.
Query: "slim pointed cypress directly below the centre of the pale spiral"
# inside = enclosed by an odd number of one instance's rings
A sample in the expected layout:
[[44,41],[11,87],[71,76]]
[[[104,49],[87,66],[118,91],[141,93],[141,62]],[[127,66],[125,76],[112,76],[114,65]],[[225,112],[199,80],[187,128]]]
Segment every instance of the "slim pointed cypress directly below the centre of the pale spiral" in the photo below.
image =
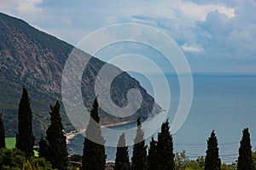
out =
[[137,119],[137,134],[134,139],[131,157],[131,170],[148,169],[147,145],[145,145],[144,132],[140,118]]

